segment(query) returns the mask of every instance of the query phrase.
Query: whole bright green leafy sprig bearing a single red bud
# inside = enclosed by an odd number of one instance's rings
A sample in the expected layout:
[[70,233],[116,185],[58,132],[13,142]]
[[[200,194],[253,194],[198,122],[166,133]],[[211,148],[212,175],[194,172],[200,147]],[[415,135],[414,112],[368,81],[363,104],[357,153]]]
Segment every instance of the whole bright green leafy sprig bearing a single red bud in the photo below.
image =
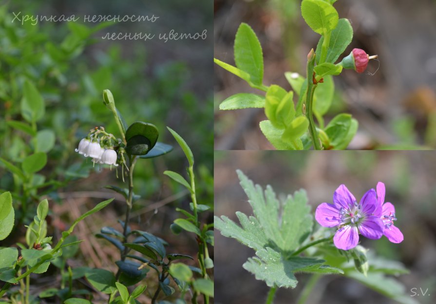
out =
[[[366,70],[369,56],[354,49],[341,62],[336,63],[353,37],[350,21],[339,19],[333,7],[336,0],[303,0],[301,12],[309,27],[321,35],[316,51],[307,55],[306,77],[296,72],[286,72],[292,90],[263,83],[264,61],[262,47],[251,27],[242,23],[236,33],[234,60],[236,67],[219,59],[214,62],[228,72],[244,79],[252,88],[264,95],[238,93],[228,97],[221,110],[265,108],[268,120],[259,126],[268,141],[279,150],[345,149],[358,129],[358,122],[350,114],[339,114],[327,125],[323,116],[332,104],[334,83],[332,76],[343,69],[358,73]],[[298,96],[294,105],[294,92]],[[318,124],[315,124],[316,118]]]

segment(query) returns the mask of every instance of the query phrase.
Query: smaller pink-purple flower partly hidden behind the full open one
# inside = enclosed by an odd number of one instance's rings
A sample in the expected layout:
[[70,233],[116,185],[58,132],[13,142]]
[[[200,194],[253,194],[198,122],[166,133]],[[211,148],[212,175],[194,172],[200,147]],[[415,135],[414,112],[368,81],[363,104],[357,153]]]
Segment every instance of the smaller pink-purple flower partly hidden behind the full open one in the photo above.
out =
[[403,233],[399,231],[397,227],[394,226],[394,221],[397,220],[395,217],[395,207],[389,202],[384,202],[385,195],[385,187],[384,183],[377,183],[377,200],[379,202],[378,212],[375,212],[374,215],[380,217],[383,222],[383,234],[388,238],[392,243],[401,243],[404,239]]

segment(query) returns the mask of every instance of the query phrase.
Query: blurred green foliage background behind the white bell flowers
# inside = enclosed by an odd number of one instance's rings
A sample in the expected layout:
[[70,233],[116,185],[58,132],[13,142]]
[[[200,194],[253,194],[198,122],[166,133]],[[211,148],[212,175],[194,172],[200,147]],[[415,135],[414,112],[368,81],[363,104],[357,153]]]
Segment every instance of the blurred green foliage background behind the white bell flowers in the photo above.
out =
[[[213,116],[212,89],[212,1],[1,1],[0,2],[0,157],[20,167],[20,162],[39,144],[48,153],[48,163],[32,183],[34,202],[47,196],[58,233],[77,213],[86,212],[104,198],[116,197],[113,208],[94,217],[89,226],[78,231],[89,240],[81,247],[87,260],[96,267],[113,268],[117,259],[107,242],[96,241],[93,234],[102,226],[119,228],[117,218],[124,218],[122,197],[106,185],[126,187],[116,179],[114,168],[93,168],[92,161],[74,149],[91,128],[104,126],[120,137],[112,113],[103,105],[103,89],[110,89],[116,107],[130,125],[144,121],[156,125],[159,141],[174,146],[165,156],[139,160],[135,167],[135,194],[141,195],[133,207],[133,228],[166,239],[173,248],[195,254],[197,243],[187,234],[175,236],[170,224],[178,217],[175,208],[189,208],[190,198],[183,186],[163,175],[172,170],[186,175],[186,157],[171,134],[170,126],[190,145],[195,157],[197,200],[213,207]],[[76,15],[76,22],[30,21],[21,24],[14,14],[32,16]],[[156,22],[84,23],[86,15],[159,16]],[[202,33],[205,39],[164,42],[160,33]],[[143,40],[105,40],[107,33],[152,33]],[[54,134],[53,143],[31,141],[31,137],[7,122],[24,121],[20,111],[22,86],[31,81],[43,96],[45,115],[38,130]],[[24,121],[25,122],[25,121]],[[120,168],[118,167],[120,175]],[[45,184],[47,183],[47,184]],[[12,191],[18,205],[17,180],[0,166],[0,192]],[[59,203],[59,205],[54,202]],[[15,206],[17,207],[17,206]],[[33,206],[33,211],[36,204]],[[33,212],[29,210],[29,214]],[[18,216],[20,216],[18,214]],[[211,221],[211,213],[203,221]],[[23,225],[22,225],[23,226]],[[23,241],[20,227],[6,243]],[[21,231],[20,231],[21,230]],[[211,254],[213,254],[211,252]],[[81,264],[83,262],[76,262]],[[73,262],[75,264],[75,262]],[[151,288],[154,288],[151,286]]]

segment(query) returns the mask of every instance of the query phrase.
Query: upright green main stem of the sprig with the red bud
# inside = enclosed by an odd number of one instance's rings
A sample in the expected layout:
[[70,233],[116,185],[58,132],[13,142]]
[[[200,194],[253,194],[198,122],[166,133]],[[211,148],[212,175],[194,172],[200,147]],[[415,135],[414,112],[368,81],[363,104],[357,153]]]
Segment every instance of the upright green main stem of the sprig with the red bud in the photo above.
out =
[[318,138],[318,133],[316,130],[315,122],[313,121],[313,94],[317,87],[316,84],[313,83],[313,67],[315,65],[315,57],[313,49],[307,55],[307,92],[306,92],[306,117],[309,121],[309,133],[312,138],[313,148],[315,150],[321,150],[320,140]]

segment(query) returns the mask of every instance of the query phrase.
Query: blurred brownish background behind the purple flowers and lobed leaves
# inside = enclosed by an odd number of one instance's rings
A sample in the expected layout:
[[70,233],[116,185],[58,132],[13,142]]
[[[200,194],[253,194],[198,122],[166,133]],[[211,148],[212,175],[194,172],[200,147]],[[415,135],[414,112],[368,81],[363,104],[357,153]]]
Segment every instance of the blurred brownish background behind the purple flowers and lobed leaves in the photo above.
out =
[[[386,185],[385,201],[396,208],[395,225],[403,232],[404,241],[390,243],[360,238],[361,244],[379,256],[401,261],[410,274],[399,280],[411,288],[428,289],[426,296],[416,296],[422,304],[435,303],[436,297],[436,155],[434,152],[403,151],[217,151],[215,153],[215,215],[236,220],[236,211],[252,214],[247,197],[239,185],[236,169],[241,169],[253,182],[271,185],[280,195],[293,194],[304,188],[312,212],[322,202],[333,202],[333,193],[343,183],[359,200],[378,181]],[[238,222],[238,221],[237,221]],[[316,224],[318,225],[318,224]],[[242,268],[254,251],[236,240],[215,232],[216,303],[265,303],[268,288],[264,282]],[[296,303],[306,274],[297,274],[295,289],[280,289],[276,304]],[[322,277],[307,303],[395,303],[357,282],[339,275]]]

